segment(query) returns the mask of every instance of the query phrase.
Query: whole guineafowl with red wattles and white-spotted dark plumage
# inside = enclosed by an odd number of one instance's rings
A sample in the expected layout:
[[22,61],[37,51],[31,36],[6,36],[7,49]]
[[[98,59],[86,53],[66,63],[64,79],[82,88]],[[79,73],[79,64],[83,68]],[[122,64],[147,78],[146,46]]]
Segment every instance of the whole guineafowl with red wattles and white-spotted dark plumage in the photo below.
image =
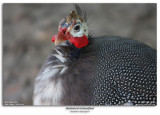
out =
[[154,49],[136,40],[89,36],[73,11],[52,41],[56,47],[35,81],[34,105],[156,105]]

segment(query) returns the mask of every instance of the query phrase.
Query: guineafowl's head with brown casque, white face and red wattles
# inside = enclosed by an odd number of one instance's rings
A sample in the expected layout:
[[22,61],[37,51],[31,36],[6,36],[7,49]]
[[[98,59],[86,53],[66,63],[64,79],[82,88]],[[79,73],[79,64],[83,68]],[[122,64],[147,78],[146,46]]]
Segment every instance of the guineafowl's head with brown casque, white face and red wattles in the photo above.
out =
[[72,11],[59,24],[58,34],[53,36],[52,42],[58,45],[68,40],[77,48],[85,47],[88,44],[88,27],[85,20]]

